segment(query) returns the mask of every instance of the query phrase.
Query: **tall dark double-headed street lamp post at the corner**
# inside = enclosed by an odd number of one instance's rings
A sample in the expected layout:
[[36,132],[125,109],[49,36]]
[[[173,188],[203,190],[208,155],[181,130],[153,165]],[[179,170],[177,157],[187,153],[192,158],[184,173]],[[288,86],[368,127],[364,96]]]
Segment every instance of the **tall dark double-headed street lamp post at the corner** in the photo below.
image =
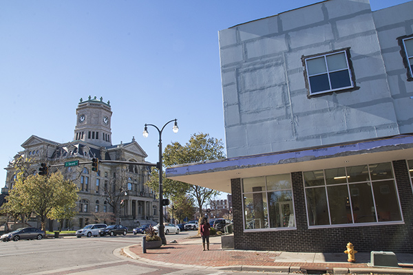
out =
[[165,123],[165,125],[162,127],[162,129],[159,129],[156,125],[153,124],[145,124],[145,129],[143,130],[143,136],[147,137],[148,136],[148,127],[147,126],[153,126],[156,128],[156,130],[158,130],[159,133],[159,162],[156,164],[156,167],[159,170],[159,236],[160,239],[162,239],[162,244],[166,245],[167,244],[167,239],[165,238],[165,232],[164,232],[164,228],[165,225],[163,224],[163,194],[162,194],[162,131],[163,129],[165,129],[165,126],[167,126],[167,124],[171,123],[171,122],[175,122],[173,124],[173,128],[172,131],[173,133],[178,133],[178,122],[175,120],[170,120],[169,122]]

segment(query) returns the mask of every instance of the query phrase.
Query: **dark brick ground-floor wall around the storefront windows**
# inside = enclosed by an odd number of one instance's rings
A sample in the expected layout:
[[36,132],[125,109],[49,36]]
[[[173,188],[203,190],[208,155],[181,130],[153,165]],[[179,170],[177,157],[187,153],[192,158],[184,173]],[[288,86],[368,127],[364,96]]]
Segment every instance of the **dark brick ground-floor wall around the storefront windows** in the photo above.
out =
[[404,224],[308,229],[301,172],[291,173],[296,230],[244,232],[241,179],[231,179],[234,243],[238,250],[343,252],[348,242],[358,252],[413,253],[413,193],[405,160],[393,162]]

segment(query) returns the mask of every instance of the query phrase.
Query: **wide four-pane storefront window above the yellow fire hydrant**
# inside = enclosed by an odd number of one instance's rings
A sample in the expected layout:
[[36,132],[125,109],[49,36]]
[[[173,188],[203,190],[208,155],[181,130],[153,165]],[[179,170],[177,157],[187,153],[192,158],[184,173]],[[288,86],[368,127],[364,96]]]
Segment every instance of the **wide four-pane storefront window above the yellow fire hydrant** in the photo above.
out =
[[303,175],[309,226],[401,221],[390,162]]

